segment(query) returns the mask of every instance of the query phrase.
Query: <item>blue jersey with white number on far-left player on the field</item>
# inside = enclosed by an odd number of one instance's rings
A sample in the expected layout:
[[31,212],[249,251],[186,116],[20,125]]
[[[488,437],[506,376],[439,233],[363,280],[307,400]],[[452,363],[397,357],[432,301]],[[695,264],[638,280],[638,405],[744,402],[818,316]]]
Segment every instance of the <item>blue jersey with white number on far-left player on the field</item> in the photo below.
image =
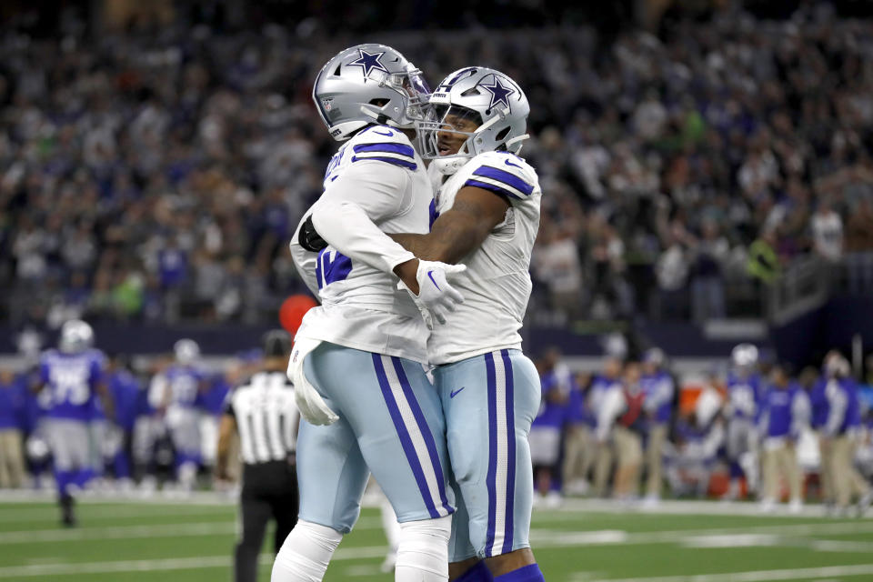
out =
[[46,416],[89,422],[94,416],[97,383],[103,376],[105,357],[96,349],[80,354],[48,350],[40,360],[40,395]]

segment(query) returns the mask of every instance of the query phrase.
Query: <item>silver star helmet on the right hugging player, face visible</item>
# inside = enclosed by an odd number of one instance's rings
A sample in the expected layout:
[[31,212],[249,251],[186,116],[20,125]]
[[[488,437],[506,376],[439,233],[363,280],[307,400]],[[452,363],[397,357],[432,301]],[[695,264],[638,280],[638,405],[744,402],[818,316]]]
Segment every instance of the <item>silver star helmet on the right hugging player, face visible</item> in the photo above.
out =
[[[468,66],[448,75],[430,95],[427,118],[416,123],[421,156],[433,160],[443,174],[454,174],[473,156],[505,150],[517,154],[529,135],[530,105],[521,87],[509,76],[484,66]],[[462,130],[459,121],[478,126]],[[457,154],[447,154],[440,134],[467,135]]]

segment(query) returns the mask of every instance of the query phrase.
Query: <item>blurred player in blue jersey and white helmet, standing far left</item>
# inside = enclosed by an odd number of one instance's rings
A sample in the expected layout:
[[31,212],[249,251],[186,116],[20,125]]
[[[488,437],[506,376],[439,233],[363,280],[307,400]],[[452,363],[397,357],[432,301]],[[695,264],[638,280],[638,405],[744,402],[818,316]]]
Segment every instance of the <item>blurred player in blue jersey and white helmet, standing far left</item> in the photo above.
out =
[[105,356],[94,349],[94,331],[74,319],[61,326],[57,349],[40,360],[41,400],[45,403],[45,435],[54,457],[55,481],[62,523],[75,525],[73,490],[93,477],[89,424],[94,399],[102,399],[105,415],[114,417],[112,398],[104,383]]

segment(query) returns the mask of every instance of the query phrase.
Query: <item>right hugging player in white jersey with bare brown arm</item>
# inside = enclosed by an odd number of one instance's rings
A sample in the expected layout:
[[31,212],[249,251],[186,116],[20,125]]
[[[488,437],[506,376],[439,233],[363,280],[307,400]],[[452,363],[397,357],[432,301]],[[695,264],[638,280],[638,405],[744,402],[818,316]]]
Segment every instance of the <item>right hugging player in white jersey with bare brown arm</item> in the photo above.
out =
[[437,86],[428,108],[430,120],[416,126],[438,217],[428,235],[393,238],[423,259],[467,266],[456,284],[464,303],[427,342],[460,494],[449,575],[543,580],[528,542],[527,435],[540,385],[518,334],[542,196],[537,172],[517,156],[530,107],[507,75],[467,67]]

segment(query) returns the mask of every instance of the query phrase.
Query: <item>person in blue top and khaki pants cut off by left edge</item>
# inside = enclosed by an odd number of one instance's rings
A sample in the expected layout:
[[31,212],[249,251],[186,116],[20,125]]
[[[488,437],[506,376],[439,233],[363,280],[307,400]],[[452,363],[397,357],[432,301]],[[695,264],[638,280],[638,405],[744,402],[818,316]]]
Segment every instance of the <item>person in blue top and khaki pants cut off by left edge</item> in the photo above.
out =
[[10,370],[0,370],[0,489],[25,484],[20,414],[24,390]]

